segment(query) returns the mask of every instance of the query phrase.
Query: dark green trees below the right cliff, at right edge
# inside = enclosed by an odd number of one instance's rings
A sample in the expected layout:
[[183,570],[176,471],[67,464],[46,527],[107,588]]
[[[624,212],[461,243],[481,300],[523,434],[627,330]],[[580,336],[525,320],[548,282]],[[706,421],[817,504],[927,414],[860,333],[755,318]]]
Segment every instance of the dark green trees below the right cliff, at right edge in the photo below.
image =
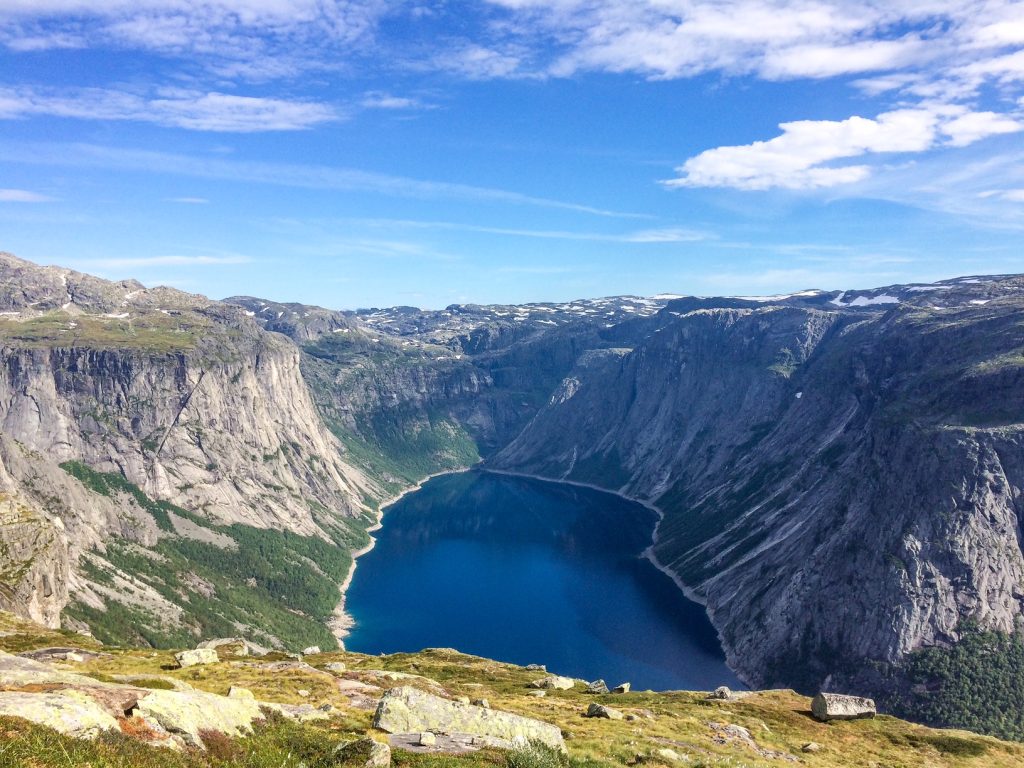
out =
[[1024,741],[1024,633],[969,626],[950,648],[910,654],[903,672],[913,687],[888,702],[893,713]]

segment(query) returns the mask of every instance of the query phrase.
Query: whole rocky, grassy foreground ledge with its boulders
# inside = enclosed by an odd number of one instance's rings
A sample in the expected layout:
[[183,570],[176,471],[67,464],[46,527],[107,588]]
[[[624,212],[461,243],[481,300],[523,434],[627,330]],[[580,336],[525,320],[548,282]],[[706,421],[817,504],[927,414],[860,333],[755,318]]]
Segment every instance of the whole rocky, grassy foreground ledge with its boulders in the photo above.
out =
[[[450,649],[368,656],[104,647],[0,613],[4,766],[1019,766],[1024,744],[788,690],[595,693]],[[612,686],[621,681],[613,681]]]

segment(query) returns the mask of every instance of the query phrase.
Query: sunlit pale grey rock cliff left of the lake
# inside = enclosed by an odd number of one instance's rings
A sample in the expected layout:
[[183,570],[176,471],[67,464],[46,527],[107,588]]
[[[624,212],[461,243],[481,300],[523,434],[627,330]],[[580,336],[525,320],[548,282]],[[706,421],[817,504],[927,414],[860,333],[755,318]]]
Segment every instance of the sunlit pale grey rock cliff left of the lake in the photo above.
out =
[[[71,599],[81,610],[70,615],[89,609],[92,622],[113,601],[142,611],[140,624],[200,633],[216,611],[189,617],[196,595],[216,590],[187,567],[209,554],[187,547],[243,557],[273,540],[314,572],[300,550],[359,538],[382,492],[342,459],[287,339],[170,289],[9,256],[0,273],[0,459],[12,493],[0,538],[12,558],[34,550],[33,563],[66,565],[49,579],[9,574],[12,607],[52,623]],[[165,566],[161,579],[146,561]],[[240,565],[232,579],[252,575]]]

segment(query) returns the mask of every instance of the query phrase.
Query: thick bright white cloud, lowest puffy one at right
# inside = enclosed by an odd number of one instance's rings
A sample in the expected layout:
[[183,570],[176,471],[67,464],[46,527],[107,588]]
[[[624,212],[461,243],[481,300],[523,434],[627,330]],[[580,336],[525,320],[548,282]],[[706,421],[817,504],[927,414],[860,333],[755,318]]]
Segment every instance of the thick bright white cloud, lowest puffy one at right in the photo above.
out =
[[719,146],[687,160],[668,186],[726,186],[737,189],[810,189],[866,179],[871,166],[836,161],[895,153],[922,153],[948,137],[966,146],[986,136],[1024,126],[990,112],[957,105],[894,110],[874,119],[801,120],[782,123],[781,135],[740,146]]

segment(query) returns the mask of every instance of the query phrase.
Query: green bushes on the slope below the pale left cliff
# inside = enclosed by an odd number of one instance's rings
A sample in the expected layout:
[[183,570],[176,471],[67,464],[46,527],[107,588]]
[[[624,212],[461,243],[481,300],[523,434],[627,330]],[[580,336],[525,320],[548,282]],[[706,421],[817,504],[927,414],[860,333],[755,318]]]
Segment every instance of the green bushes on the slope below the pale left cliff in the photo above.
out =
[[173,530],[170,513],[225,535],[233,547],[167,536],[152,549],[115,541],[101,555],[85,560],[87,575],[114,584],[120,571],[181,605],[180,621],[152,610],[108,600],[104,610],[81,602],[66,610],[85,622],[101,641],[157,648],[188,646],[199,637],[234,636],[249,627],[264,642],[276,638],[285,647],[334,648],[325,626],[340,600],[339,584],[351,565],[350,552],[368,541],[361,520],[336,520],[334,541],[248,525],[215,525],[173,504],[150,499],[121,475],[96,472],[80,462],[61,467],[102,496],[130,495],[153,514],[164,530]]

